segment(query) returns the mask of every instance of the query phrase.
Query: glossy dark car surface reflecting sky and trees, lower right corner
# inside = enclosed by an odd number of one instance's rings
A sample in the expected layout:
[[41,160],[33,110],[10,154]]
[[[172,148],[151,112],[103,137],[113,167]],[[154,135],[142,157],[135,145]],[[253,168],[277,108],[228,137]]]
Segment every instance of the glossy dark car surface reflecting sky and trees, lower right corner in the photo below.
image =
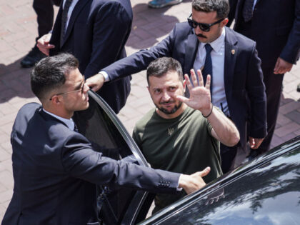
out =
[[[299,224],[300,147],[191,197],[159,224]],[[156,224],[151,221],[151,224]]]

